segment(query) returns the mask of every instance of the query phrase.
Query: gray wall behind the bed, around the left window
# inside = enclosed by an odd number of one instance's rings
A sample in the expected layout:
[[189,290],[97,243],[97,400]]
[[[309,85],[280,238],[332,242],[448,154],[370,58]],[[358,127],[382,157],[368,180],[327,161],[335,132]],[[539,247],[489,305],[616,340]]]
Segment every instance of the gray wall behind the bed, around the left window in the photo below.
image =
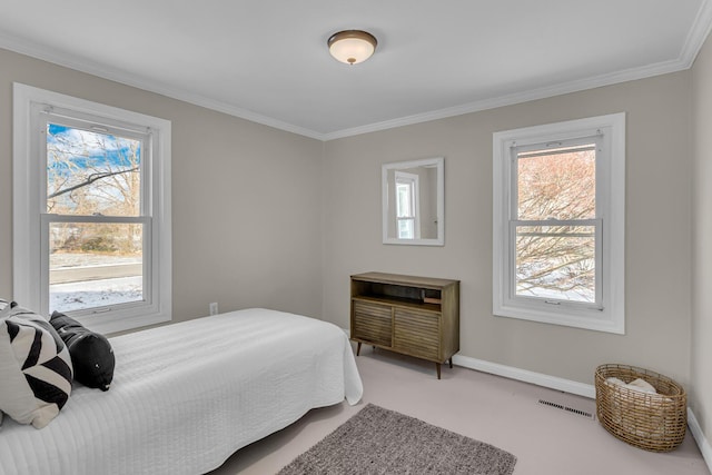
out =
[[12,296],[17,81],[172,122],[175,321],[210,301],[320,316],[319,141],[1,49],[0,65],[1,296]]

